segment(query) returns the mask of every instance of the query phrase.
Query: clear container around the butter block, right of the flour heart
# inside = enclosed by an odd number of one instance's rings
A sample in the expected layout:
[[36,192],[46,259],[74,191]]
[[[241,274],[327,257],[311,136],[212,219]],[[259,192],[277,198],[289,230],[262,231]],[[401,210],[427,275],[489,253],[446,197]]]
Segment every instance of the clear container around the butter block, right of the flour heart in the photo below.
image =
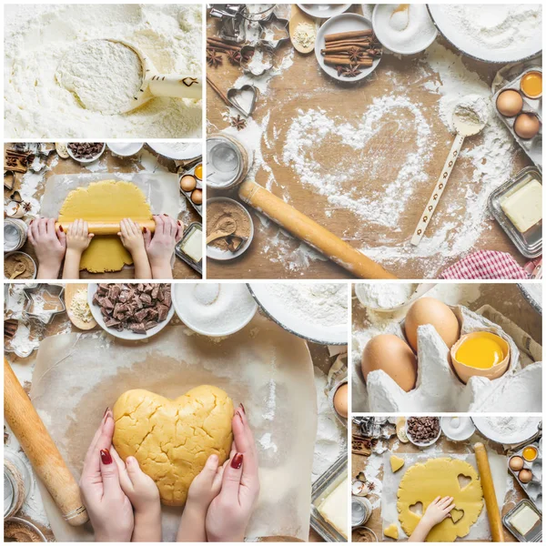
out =
[[490,213],[525,258],[537,258],[542,254],[542,220],[521,233],[504,212],[502,205],[509,197],[514,196],[519,190],[530,184],[532,180],[536,180],[542,185],[542,175],[539,168],[525,167],[521,169],[515,177],[490,194],[488,203]]

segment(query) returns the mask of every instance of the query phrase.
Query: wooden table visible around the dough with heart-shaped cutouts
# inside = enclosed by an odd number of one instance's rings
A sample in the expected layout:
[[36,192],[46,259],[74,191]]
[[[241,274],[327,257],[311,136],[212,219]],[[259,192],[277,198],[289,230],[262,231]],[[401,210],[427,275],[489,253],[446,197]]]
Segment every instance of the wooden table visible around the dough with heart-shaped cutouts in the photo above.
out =
[[[352,424],[352,431],[353,433],[358,433],[359,428],[354,423]],[[478,436],[480,436],[479,433],[477,433]],[[470,440],[476,441],[475,436],[472,436]],[[398,443],[398,448],[393,450],[394,444]],[[489,440],[485,439],[485,443],[487,445],[488,450],[495,450],[498,453],[502,453],[501,446],[499,444],[496,444],[494,442],[489,442]],[[440,449],[446,453],[464,453],[467,452],[465,450],[465,446],[468,446],[470,444],[469,441],[467,442],[452,442],[448,440],[445,436],[440,437],[440,440],[438,440],[438,446]],[[416,446],[414,446],[411,443],[403,444],[402,442],[398,441],[396,437],[391,438],[388,441],[388,449],[392,453],[419,453],[420,450]],[[364,455],[358,455],[353,453],[352,459],[351,459],[351,477],[355,478],[359,471],[363,470],[364,473],[366,473],[366,465],[368,463],[369,457],[366,457]],[[508,470],[507,470],[508,473]],[[383,470],[379,470],[378,478],[379,480],[382,480],[383,477]],[[506,497],[504,500],[504,505],[502,506],[502,515],[506,514],[508,511],[510,511],[521,499],[526,499],[527,495],[525,492],[521,489],[520,484],[517,482],[517,480],[513,477],[511,477],[511,480],[514,481],[514,490],[507,490]],[[369,501],[372,503],[375,502],[378,499],[378,496],[380,497],[381,493],[380,491],[374,493],[373,491],[369,493]],[[485,508],[484,508],[485,510]],[[381,509],[380,506],[372,512],[371,516],[369,517],[369,521],[366,522],[366,527],[369,527],[372,531],[376,533],[378,536],[379,541],[382,541],[383,537],[383,521],[381,516]],[[505,542],[517,542],[515,538],[511,535],[511,533],[503,527],[503,534],[504,534],[504,541]],[[356,539],[353,539],[353,541],[356,541]],[[387,539],[387,541],[391,541],[390,539]],[[462,540],[464,541],[464,540]]]

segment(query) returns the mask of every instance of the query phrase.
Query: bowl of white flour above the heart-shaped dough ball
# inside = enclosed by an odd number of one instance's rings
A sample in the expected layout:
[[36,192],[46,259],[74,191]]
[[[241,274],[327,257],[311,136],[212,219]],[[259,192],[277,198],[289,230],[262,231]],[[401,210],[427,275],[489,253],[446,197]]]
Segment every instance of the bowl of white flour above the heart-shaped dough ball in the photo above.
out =
[[347,345],[349,285],[345,283],[250,283],[259,307],[299,338]]

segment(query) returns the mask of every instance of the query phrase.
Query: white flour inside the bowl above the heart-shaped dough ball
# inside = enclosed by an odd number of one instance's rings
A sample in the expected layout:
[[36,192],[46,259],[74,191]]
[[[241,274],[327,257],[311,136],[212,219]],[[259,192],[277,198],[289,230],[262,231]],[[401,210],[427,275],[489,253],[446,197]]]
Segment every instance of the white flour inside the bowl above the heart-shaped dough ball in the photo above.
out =
[[346,324],[349,285],[341,283],[292,283],[268,285],[268,293],[283,308],[320,326]]

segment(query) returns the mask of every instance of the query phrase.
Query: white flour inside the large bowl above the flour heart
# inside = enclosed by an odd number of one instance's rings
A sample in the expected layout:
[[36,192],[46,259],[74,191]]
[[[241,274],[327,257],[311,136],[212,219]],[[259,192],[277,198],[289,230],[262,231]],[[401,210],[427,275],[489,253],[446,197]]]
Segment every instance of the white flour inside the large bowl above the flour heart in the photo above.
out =
[[523,47],[542,24],[540,4],[451,4],[442,11],[466,40],[488,49]]

